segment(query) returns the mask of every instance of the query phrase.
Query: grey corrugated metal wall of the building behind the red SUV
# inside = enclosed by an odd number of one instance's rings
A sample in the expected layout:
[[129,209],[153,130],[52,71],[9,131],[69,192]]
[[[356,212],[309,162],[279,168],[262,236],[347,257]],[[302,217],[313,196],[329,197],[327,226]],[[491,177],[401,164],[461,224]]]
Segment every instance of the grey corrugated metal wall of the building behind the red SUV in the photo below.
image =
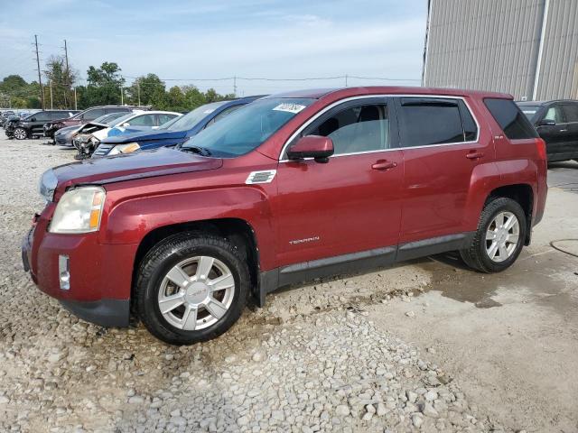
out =
[[[431,0],[424,86],[532,99],[546,0]],[[578,0],[549,0],[536,98],[578,97]]]

